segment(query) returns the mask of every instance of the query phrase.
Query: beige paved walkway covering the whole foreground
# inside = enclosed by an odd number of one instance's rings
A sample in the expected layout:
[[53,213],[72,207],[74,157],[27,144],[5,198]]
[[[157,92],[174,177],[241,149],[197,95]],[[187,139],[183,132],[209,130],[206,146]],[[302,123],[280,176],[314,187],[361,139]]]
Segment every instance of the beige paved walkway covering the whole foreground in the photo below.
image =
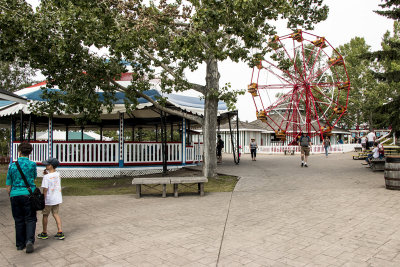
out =
[[400,192],[383,173],[350,154],[298,158],[224,162],[241,176],[233,194],[65,197],[67,238],[30,255],[15,249],[1,190],[0,266],[400,266]]

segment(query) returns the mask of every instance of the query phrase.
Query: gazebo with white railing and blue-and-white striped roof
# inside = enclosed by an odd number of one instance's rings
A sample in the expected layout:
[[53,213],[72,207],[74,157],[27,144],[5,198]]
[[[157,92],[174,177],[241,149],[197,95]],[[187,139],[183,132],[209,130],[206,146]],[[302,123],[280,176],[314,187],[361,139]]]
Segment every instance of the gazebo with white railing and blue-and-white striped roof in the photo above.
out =
[[[127,86],[131,74],[123,74],[117,82]],[[162,94],[157,89],[157,80],[152,81],[154,89],[145,91],[152,99],[166,97],[166,106],[198,116],[203,115],[204,101],[198,97],[181,94]],[[46,81],[15,92],[28,103],[12,100],[0,101],[0,123],[11,129],[10,162],[18,158],[17,149],[21,142],[29,141],[33,145],[30,156],[38,164],[38,175],[41,175],[41,162],[47,157],[60,161],[64,177],[113,177],[138,175],[154,172],[166,172],[167,169],[198,164],[202,161],[202,136],[193,131],[199,127],[195,122],[160,111],[152,103],[140,98],[139,105],[133,111],[127,111],[124,104],[125,95],[116,93],[114,109],[106,109],[100,122],[88,122],[76,125],[75,115],[53,114],[40,116],[33,114],[30,104],[45,101],[42,90],[58,90],[46,87]],[[102,92],[97,92],[102,99]],[[218,104],[218,119],[226,121],[237,115],[237,111],[228,111],[224,102]],[[155,133],[155,140],[140,140],[143,130]],[[48,138],[39,141],[37,132],[47,131]],[[55,130],[65,131],[65,140],[54,140]],[[70,140],[69,133],[81,132],[81,140]],[[85,140],[84,131],[96,131],[100,140]],[[103,133],[113,130],[116,140],[103,140]],[[167,136],[168,135],[168,136]],[[139,136],[139,138],[137,137]]]

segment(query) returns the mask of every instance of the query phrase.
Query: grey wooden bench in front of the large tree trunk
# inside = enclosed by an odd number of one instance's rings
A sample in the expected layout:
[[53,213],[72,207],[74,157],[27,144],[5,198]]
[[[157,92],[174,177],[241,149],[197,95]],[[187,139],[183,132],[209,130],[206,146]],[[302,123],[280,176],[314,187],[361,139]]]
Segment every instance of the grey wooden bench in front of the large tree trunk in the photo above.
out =
[[173,184],[174,186],[174,197],[178,197],[178,186],[179,184],[185,187],[192,187],[197,185],[197,192],[200,196],[204,196],[204,183],[207,183],[208,179],[202,176],[194,177],[151,177],[151,178],[133,178],[132,184],[136,185],[136,198],[140,198],[142,195],[142,186],[157,190],[157,186],[162,186],[162,197],[167,197],[167,184]]

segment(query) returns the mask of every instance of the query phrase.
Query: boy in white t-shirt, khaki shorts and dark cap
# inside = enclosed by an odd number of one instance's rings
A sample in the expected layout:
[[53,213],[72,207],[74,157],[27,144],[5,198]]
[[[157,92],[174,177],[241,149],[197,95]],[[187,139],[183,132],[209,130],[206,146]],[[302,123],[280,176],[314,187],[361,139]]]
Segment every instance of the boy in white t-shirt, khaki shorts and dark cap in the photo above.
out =
[[47,222],[49,219],[50,212],[53,214],[54,219],[57,223],[57,234],[54,236],[57,239],[64,239],[65,236],[61,228],[61,218],[58,215],[59,206],[62,203],[61,194],[61,179],[60,173],[56,171],[60,162],[56,158],[49,158],[42,162],[46,166],[44,170],[45,176],[42,180],[43,194],[45,195],[45,208],[42,211],[43,214],[43,232],[38,234],[38,238],[47,239]]

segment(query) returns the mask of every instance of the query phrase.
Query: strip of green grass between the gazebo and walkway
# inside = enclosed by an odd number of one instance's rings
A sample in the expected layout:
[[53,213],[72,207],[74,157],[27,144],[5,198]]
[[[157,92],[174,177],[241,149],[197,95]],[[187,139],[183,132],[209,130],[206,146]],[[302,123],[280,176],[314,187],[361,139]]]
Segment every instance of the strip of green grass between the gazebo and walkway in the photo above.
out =
[[[173,177],[173,175],[171,175]],[[218,178],[208,179],[204,185],[205,192],[231,192],[238,181],[236,176],[219,176]],[[40,186],[42,178],[36,180],[36,185]],[[0,187],[6,184],[6,171],[1,171]],[[61,180],[62,192],[64,196],[90,196],[90,195],[122,195],[135,194],[136,187],[132,185],[130,178],[63,178]],[[161,187],[160,187],[161,188]],[[195,192],[195,188],[187,189],[179,187],[181,192]],[[158,193],[149,191],[149,193]],[[173,193],[172,185],[167,185],[167,193]],[[146,191],[144,192],[146,194]]]

